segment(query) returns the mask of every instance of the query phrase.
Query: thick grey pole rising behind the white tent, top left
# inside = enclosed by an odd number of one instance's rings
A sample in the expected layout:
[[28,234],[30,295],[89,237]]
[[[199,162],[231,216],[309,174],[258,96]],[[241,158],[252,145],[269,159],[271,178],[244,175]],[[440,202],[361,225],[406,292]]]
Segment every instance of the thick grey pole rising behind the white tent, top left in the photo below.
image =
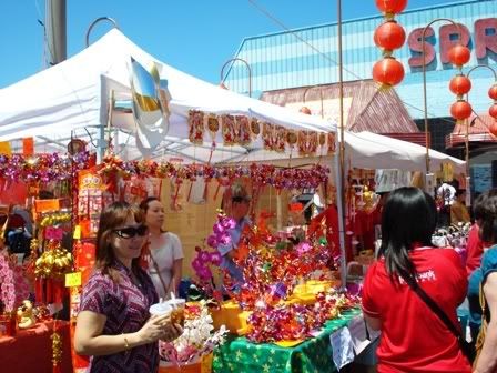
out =
[[67,58],[65,0],[47,0],[45,9],[49,64],[54,65]]

